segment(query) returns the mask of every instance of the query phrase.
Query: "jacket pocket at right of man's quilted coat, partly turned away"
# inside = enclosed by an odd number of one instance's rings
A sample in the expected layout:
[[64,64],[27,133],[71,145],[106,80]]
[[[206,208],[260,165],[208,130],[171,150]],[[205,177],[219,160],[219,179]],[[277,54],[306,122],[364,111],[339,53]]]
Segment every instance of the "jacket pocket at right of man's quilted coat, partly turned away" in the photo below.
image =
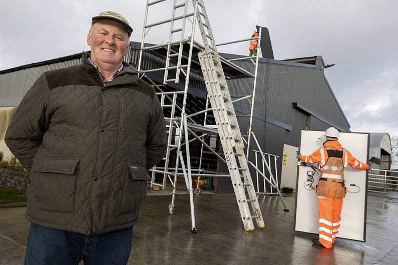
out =
[[120,213],[136,211],[147,194],[147,180],[151,180],[143,165],[128,163]]

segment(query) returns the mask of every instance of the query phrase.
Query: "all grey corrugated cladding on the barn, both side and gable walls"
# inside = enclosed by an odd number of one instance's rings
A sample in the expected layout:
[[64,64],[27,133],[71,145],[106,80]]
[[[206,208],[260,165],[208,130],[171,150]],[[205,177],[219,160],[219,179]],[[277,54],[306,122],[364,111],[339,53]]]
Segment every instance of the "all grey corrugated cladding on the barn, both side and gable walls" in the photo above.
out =
[[[139,45],[132,42],[132,48],[125,60],[137,65],[139,52]],[[238,56],[236,54],[221,55],[226,58]],[[0,106],[19,105],[26,91],[43,72],[79,63],[80,59],[74,58],[0,74]],[[240,60],[235,63],[254,72],[254,63],[250,60]],[[143,68],[160,68],[162,64],[164,61],[161,58],[144,53]],[[159,72],[159,74],[163,73]],[[231,95],[251,94],[253,81],[254,78],[228,80]],[[194,73],[190,77],[190,87],[200,91],[206,90],[202,77]],[[236,104],[249,110],[250,101],[245,99]],[[310,64],[260,58],[254,111],[273,120],[293,125],[293,113],[299,110],[292,107],[292,102],[298,102],[321,115],[325,120],[346,130],[349,129],[349,124],[334,99],[322,70]]]

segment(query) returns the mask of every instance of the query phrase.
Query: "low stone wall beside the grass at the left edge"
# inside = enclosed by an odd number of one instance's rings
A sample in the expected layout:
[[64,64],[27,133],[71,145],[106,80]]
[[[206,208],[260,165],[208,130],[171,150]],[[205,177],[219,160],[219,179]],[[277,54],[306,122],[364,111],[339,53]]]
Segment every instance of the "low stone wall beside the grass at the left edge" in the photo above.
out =
[[28,173],[0,168],[0,187],[18,188],[26,193],[30,183]]

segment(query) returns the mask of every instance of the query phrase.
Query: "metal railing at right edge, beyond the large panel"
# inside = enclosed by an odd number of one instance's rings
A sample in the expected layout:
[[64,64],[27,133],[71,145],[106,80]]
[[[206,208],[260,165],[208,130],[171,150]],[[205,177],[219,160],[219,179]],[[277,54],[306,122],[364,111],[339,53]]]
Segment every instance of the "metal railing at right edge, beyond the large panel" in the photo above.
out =
[[398,171],[370,168],[367,183],[368,191],[398,191]]

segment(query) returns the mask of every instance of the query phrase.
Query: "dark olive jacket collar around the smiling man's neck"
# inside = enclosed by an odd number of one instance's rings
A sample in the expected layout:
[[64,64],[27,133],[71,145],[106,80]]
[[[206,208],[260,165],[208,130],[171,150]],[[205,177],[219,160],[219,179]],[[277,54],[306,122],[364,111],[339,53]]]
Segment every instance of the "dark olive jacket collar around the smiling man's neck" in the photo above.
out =
[[[104,86],[104,82],[97,68],[90,63],[88,57],[90,57],[90,52],[83,52],[82,56],[83,67],[89,72],[91,76],[93,76],[94,79],[98,80],[98,82],[101,83],[102,86]],[[129,83],[138,84],[138,70],[130,63],[124,61],[122,63],[123,63],[123,69],[119,72],[118,75],[115,76],[115,78],[110,83],[105,85],[104,88],[118,84],[129,84]]]

